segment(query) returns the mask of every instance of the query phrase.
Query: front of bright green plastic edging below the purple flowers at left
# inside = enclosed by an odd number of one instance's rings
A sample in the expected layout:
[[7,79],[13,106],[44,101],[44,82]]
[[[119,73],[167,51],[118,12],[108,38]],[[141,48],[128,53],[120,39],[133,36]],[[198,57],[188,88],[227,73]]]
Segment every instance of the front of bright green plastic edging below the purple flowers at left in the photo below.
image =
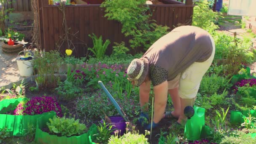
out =
[[26,136],[28,126],[46,116],[54,116],[56,112],[45,112],[40,115],[5,115],[0,114],[0,128],[7,128],[11,136]]

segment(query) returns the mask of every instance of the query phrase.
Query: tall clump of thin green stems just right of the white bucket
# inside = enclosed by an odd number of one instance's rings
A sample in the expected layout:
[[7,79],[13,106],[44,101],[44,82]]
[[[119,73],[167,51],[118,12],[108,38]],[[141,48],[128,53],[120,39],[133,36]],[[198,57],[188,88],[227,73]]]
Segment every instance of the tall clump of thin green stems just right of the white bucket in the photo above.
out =
[[37,71],[35,81],[38,88],[56,88],[58,79],[54,72],[59,69],[63,59],[57,51],[35,53],[32,64]]

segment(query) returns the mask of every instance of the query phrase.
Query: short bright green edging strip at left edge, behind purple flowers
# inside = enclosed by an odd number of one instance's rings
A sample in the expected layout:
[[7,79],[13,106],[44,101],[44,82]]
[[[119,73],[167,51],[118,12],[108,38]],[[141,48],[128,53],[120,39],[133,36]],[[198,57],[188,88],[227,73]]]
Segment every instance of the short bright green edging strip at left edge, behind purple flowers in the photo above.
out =
[[16,109],[20,101],[22,101],[22,98],[4,99],[3,101],[0,101],[0,114]]

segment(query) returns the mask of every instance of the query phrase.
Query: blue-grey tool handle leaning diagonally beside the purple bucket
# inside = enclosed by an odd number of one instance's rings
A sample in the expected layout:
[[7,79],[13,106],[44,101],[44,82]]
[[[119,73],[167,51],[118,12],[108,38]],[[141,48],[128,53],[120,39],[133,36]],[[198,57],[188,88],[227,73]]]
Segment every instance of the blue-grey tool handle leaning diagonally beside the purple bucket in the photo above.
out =
[[104,92],[107,94],[107,97],[109,97],[112,104],[114,104],[115,108],[117,109],[117,112],[125,119],[126,122],[130,123],[130,120],[128,120],[128,117],[126,116],[125,112],[123,112],[123,109],[117,104],[113,96],[109,93],[107,88],[104,86],[104,84],[101,81],[98,81],[101,88],[104,90]]

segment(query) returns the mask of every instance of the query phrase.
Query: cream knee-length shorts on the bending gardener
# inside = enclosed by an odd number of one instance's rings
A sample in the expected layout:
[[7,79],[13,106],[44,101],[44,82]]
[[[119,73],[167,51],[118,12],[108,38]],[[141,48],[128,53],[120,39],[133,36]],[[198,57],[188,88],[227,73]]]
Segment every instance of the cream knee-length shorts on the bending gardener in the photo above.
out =
[[173,80],[168,81],[168,89],[179,88],[179,96],[182,99],[196,98],[201,80],[211,66],[214,58],[215,43],[212,37],[211,41],[213,43],[213,52],[208,60],[194,62],[184,72],[181,72]]

